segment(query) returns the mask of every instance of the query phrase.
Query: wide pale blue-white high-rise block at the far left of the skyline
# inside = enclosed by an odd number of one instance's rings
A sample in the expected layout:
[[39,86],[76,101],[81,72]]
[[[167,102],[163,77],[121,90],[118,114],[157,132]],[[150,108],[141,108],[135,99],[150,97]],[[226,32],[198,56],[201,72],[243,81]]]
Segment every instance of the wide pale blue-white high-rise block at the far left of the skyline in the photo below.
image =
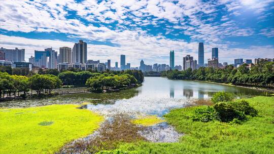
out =
[[24,62],[25,61],[25,49],[5,49],[1,47],[1,52],[5,53],[5,60],[11,62]]

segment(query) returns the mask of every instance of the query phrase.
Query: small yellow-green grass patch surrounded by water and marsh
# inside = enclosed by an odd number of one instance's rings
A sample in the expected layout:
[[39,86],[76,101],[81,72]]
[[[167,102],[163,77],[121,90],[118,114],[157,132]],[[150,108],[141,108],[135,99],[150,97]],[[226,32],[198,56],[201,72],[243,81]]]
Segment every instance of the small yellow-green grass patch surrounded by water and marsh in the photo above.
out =
[[165,122],[165,120],[160,119],[156,115],[147,115],[145,117],[139,117],[138,119],[132,120],[133,124],[142,126],[153,126],[162,122]]

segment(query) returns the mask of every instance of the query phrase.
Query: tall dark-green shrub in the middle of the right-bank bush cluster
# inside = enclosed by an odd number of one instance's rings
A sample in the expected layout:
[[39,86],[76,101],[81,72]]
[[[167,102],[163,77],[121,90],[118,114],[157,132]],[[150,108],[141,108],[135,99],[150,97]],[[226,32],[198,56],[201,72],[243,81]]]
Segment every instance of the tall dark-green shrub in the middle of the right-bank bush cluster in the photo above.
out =
[[246,115],[244,111],[238,110],[237,105],[232,102],[219,102],[214,106],[217,112],[218,119],[221,122],[230,122],[233,119],[245,120]]

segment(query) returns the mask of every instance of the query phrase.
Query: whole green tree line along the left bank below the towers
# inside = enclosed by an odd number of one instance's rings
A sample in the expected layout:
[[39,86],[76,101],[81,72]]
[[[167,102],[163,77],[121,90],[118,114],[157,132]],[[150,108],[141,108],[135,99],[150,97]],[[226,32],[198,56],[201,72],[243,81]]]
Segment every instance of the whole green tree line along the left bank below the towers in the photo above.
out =
[[[97,85],[92,84],[94,81]],[[57,73],[56,69],[49,69],[44,71],[43,74],[33,73],[30,76],[0,72],[0,98],[5,97],[5,95],[16,97],[20,93],[23,93],[21,97],[25,98],[29,90],[31,90],[31,93],[35,91],[37,95],[50,94],[53,89],[60,88],[62,85],[87,85],[91,89],[104,90],[122,88],[143,81],[144,75],[139,70],[106,71],[102,73],[64,71]],[[96,87],[98,85],[100,87]]]

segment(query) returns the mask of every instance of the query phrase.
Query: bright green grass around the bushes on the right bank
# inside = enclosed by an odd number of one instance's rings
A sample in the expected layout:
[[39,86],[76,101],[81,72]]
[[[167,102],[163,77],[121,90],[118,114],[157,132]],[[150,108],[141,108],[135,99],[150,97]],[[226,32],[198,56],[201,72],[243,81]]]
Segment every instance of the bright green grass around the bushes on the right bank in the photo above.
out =
[[259,115],[240,125],[193,122],[190,115],[197,106],[174,109],[164,117],[185,134],[178,143],[127,143],[119,149],[128,153],[274,153],[274,97],[247,100]]

